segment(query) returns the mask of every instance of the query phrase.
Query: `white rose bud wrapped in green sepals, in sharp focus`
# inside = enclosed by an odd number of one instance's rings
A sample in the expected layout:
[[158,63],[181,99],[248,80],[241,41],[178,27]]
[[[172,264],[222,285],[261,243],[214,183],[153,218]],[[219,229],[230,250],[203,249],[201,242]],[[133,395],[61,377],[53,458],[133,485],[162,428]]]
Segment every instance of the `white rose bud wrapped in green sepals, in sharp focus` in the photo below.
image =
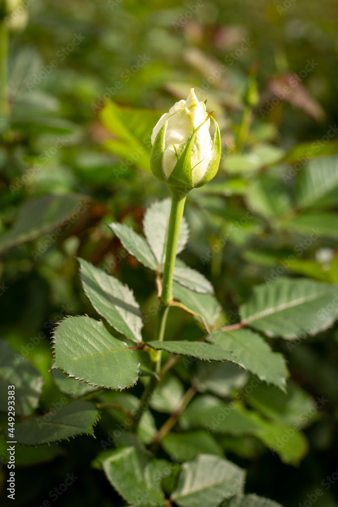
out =
[[[213,139],[210,119],[215,124]],[[161,182],[191,190],[212,179],[220,160],[219,128],[194,88],[161,116],[152,134],[151,168]]]

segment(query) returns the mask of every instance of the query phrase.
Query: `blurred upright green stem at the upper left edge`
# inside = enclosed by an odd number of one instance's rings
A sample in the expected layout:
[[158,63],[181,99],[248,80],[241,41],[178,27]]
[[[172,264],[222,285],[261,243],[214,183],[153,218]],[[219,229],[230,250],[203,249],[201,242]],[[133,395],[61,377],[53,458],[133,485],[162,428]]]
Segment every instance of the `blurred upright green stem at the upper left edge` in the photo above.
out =
[[7,96],[8,79],[8,26],[5,21],[6,2],[0,0],[0,117],[7,118],[9,112]]

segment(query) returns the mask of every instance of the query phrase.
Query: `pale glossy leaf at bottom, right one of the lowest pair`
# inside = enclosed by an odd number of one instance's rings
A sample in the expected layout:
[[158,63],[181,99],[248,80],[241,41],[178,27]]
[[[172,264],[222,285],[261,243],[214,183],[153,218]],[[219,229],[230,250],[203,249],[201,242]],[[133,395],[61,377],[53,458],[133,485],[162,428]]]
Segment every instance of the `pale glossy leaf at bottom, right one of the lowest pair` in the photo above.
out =
[[172,499],[180,507],[216,507],[243,490],[245,473],[234,463],[210,454],[200,454],[183,463]]

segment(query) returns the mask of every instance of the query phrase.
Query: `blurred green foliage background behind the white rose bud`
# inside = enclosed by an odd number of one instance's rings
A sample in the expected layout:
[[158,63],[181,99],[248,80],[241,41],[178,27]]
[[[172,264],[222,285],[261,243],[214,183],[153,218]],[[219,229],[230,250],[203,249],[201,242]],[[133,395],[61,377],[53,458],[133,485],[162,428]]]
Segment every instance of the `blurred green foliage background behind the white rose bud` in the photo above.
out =
[[[279,276],[338,284],[336,2],[208,0],[192,17],[192,2],[174,0],[28,4],[26,26],[10,33],[11,114],[7,127],[5,119],[0,123],[0,313],[1,338],[43,376],[38,414],[64,395],[49,373],[54,323],[66,315],[97,318],[82,291],[76,257],[108,267],[133,289],[143,311],[156,300],[153,273],[132,256],[120,256],[121,243],[105,224],[124,222],[140,233],[146,207],[168,197],[149,172],[148,136],[161,112],[193,86],[207,88],[198,96],[208,97],[209,110],[215,110],[224,148],[217,177],[187,198],[190,239],[181,258],[212,281],[230,324],[239,320],[238,307],[254,285],[270,286]],[[62,48],[76,34],[83,42],[65,54]],[[248,49],[240,51],[243,40]],[[34,82],[53,60],[57,66]],[[226,70],[219,72],[223,64]],[[211,79],[212,72],[220,76]],[[248,76],[255,73],[259,103],[245,144],[236,151],[243,117],[250,114]],[[302,78],[297,93],[274,99],[273,90],[283,90],[289,74]],[[99,111],[105,93],[114,102]],[[315,155],[310,161],[309,152]],[[39,165],[30,176],[34,164]],[[224,237],[226,246],[219,247]],[[193,319],[171,311],[167,340],[201,336]],[[153,339],[153,323],[145,324],[147,340]],[[332,327],[294,347],[281,339],[270,342],[287,360],[291,401],[276,402],[274,411],[267,400],[275,394],[262,392],[246,399],[246,409],[292,425],[317,396],[328,402],[283,460],[249,433],[217,437],[215,453],[248,470],[246,492],[293,507],[321,488],[316,505],[338,505],[336,485],[326,490],[321,484],[337,471],[337,341]],[[189,387],[187,372],[193,375],[195,367],[177,368],[170,391]],[[229,377],[221,382],[217,403],[250,382],[234,384],[231,372]],[[217,389],[216,376],[208,400],[200,394],[192,402],[182,427],[193,428],[207,402],[212,408]],[[138,384],[128,392],[139,396],[141,390]],[[153,410],[158,427],[165,412]],[[39,448],[39,454],[21,448],[16,504],[42,504],[74,472],[79,479],[57,500],[64,507],[123,505],[102,471],[92,467],[100,441],[119,417],[103,412],[96,439],[77,437]]]

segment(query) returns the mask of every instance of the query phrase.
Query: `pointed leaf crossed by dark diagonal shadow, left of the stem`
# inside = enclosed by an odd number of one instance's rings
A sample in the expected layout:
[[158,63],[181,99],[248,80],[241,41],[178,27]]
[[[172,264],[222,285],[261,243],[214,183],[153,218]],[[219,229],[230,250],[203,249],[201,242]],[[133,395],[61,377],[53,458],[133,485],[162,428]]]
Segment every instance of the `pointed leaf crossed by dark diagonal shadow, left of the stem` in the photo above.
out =
[[141,342],[141,312],[130,288],[89,262],[79,262],[82,285],[95,310],[119,333]]

